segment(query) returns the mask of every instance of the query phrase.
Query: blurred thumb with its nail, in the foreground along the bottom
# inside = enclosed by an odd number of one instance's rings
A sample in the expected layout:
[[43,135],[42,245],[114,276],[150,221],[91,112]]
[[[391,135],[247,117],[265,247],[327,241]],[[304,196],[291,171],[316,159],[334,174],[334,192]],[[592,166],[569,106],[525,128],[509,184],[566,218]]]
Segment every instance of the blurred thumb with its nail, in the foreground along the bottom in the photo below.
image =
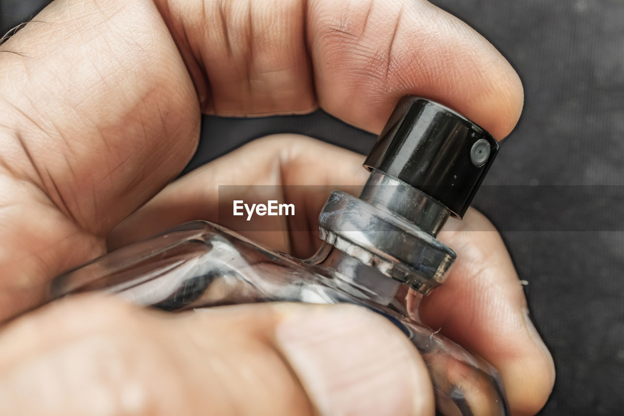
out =
[[248,305],[171,317],[111,299],[72,299],[22,317],[0,337],[0,351],[2,414],[434,409],[413,345],[383,317],[346,305]]

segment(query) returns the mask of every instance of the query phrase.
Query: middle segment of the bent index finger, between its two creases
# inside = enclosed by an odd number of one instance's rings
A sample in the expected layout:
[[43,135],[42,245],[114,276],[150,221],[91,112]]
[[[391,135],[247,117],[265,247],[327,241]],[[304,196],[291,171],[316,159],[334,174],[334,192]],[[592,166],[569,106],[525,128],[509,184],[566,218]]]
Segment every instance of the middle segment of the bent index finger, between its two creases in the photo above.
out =
[[[314,107],[300,0],[202,3],[202,29],[191,41],[211,74],[205,106],[220,115],[310,111]],[[192,25],[188,25],[192,26]],[[193,31],[195,29],[188,29]],[[211,45],[206,49],[204,43]],[[218,62],[218,65],[215,64]],[[218,80],[218,82],[212,82]]]

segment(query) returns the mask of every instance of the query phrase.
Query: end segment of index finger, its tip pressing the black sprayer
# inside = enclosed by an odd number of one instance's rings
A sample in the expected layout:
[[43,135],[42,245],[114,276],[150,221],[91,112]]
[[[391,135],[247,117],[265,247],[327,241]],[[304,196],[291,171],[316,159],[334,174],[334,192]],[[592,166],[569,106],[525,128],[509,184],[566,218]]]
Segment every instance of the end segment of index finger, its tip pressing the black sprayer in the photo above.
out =
[[409,92],[457,109],[499,139],[515,126],[519,77],[456,17],[423,0],[311,3],[318,100],[332,114],[379,132]]

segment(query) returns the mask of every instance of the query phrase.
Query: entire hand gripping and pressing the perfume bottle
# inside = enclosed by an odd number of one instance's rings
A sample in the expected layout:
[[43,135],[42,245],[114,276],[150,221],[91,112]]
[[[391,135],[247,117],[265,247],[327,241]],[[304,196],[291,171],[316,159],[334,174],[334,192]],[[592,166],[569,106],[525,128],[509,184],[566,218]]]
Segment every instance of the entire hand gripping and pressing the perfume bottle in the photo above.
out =
[[[500,138],[522,107],[519,79],[495,49],[420,0],[57,0],[2,49],[17,52],[0,52],[5,318],[36,305],[54,275],[103,254],[111,230],[159,191],[111,244],[211,219],[206,202],[214,206],[217,184],[361,183],[360,156],[282,137],[163,189],[195,149],[200,110],[253,116],[321,106],[379,132],[399,97],[418,94]],[[326,166],[310,178],[317,155]],[[328,167],[339,170],[330,176]],[[459,260],[421,315],[500,370],[515,414],[534,413],[552,388],[552,359],[526,318],[509,255],[476,212],[456,227],[440,237]],[[289,248],[275,237],[263,238]],[[388,322],[346,306],[248,305],[172,317],[95,295],[69,299],[4,329],[0,384],[2,414],[433,409],[413,347]]]

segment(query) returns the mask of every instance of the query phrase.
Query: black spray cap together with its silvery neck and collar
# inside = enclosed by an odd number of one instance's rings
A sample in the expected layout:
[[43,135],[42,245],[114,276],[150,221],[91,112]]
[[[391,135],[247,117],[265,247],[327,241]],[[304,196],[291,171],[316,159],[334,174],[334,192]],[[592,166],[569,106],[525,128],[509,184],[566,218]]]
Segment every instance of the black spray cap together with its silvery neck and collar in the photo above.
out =
[[436,239],[462,217],[499,149],[484,129],[420,97],[399,101],[364,162],[371,176],[359,198],[334,191],[320,235],[384,275],[427,294],[456,254]]

